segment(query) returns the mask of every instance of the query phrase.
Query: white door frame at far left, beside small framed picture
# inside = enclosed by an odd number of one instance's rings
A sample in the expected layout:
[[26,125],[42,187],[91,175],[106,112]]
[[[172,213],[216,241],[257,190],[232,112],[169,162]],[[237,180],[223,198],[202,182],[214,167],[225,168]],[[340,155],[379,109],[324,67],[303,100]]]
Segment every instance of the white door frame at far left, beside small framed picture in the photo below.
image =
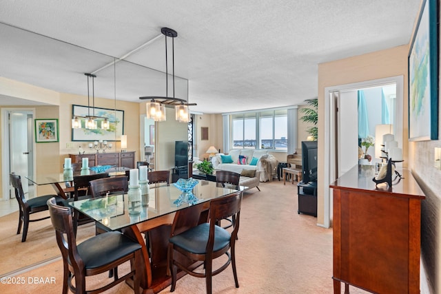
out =
[[[1,198],[0,200],[9,200],[10,199],[10,185],[9,185],[9,174],[10,174],[10,142],[9,142],[9,120],[8,120],[8,114],[10,112],[31,112],[32,113],[32,120],[35,118],[35,108],[33,107],[4,107],[1,109],[1,125],[2,125],[2,132],[1,132]],[[32,134],[32,138],[34,138],[34,132],[32,132],[32,129],[30,130]],[[36,174],[37,167],[36,167],[36,156],[35,156],[35,150],[36,150],[36,144],[35,140],[32,140],[32,149],[34,151],[34,154],[32,154],[32,167],[33,167],[33,173]],[[13,198],[13,196],[11,195]]]

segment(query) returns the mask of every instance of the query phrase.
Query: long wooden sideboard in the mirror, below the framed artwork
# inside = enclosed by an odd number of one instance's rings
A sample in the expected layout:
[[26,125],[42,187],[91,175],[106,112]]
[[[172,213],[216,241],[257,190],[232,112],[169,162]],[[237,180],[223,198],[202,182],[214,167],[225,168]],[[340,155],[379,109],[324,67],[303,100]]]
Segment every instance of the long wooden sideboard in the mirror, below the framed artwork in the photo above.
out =
[[72,162],[81,163],[83,158],[89,158],[89,166],[114,165],[116,167],[128,167],[134,169],[135,151],[109,152],[109,153],[90,153],[90,154],[69,154]]

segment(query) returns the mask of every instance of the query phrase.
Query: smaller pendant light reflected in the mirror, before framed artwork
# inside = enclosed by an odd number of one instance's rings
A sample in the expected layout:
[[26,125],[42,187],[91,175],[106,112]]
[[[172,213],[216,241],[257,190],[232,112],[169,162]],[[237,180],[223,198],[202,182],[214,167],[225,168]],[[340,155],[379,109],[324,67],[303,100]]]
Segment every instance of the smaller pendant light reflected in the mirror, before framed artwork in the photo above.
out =
[[[74,116],[72,118],[72,129],[81,129],[81,119],[85,118],[86,129],[98,129],[97,119],[101,120],[101,129],[109,129],[110,121],[102,116],[95,116],[95,87],[94,87],[94,74],[84,74],[88,77],[88,115],[87,116]],[[92,78],[92,115],[90,115],[90,78]]]

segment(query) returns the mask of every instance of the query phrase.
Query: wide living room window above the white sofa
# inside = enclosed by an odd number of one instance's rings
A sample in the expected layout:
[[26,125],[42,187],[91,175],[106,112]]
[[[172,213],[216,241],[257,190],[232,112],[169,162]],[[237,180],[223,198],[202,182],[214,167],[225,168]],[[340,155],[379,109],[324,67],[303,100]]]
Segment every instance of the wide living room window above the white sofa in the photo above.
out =
[[230,149],[287,151],[287,109],[231,115]]

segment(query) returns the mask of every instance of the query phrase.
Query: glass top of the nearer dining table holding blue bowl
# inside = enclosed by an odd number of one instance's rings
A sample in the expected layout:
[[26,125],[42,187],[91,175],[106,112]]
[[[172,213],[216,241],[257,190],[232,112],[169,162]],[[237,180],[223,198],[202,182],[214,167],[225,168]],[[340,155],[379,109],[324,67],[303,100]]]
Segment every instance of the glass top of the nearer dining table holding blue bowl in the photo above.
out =
[[183,193],[174,185],[156,185],[150,185],[148,196],[141,196],[140,199],[134,198],[129,191],[69,204],[114,231],[245,189],[241,186],[222,187],[207,180],[200,180],[189,193]]

